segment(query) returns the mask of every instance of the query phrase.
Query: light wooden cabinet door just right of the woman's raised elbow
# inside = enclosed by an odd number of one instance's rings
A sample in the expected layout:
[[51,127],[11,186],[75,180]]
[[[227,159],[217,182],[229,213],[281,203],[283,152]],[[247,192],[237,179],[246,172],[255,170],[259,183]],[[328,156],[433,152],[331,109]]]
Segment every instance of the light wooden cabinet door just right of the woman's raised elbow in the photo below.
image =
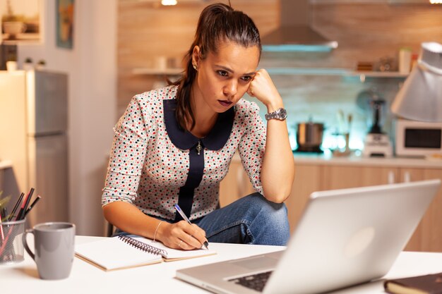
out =
[[289,213],[290,231],[293,231],[311,192],[321,190],[321,166],[296,164],[292,192],[285,204]]

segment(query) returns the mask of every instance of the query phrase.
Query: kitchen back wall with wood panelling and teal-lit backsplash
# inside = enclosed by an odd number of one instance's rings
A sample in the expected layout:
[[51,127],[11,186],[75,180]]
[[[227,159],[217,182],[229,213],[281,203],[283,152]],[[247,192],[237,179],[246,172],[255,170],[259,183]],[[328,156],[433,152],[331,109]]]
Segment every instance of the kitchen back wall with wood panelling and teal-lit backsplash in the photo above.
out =
[[[133,94],[164,83],[160,75],[136,75],[133,68],[153,68],[158,56],[183,56],[191,44],[199,13],[213,2],[153,7],[149,1],[119,0],[118,116]],[[325,145],[333,145],[331,134],[338,128],[336,114],[341,109],[345,116],[353,116],[350,147],[362,148],[372,117],[366,105],[370,97],[364,90],[374,90],[386,100],[383,128],[393,136],[389,106],[404,78],[366,78],[362,82],[359,75],[330,75],[330,71],[287,75],[275,68],[353,70],[358,61],[376,63],[385,57],[394,63],[401,47],[419,53],[421,42],[442,42],[442,6],[390,5],[387,0],[312,2],[312,26],[338,41],[338,49],[330,53],[264,53],[260,63],[261,67],[273,70],[272,78],[285,99],[293,145],[296,123],[309,118],[325,123]],[[253,1],[253,5],[244,0],[231,3],[253,18],[261,35],[273,30],[280,21],[277,0]],[[263,107],[261,112],[262,115],[265,112]]]

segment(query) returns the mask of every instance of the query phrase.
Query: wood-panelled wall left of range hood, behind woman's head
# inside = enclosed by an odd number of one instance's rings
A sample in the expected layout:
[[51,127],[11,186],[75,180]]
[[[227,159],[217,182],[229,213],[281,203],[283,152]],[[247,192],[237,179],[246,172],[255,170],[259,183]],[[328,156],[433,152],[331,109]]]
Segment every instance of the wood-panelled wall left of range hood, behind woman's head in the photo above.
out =
[[[193,40],[199,14],[205,6],[217,1],[181,1],[177,6],[155,6],[153,2],[118,1],[119,115],[134,94],[164,82],[161,76],[135,75],[133,69],[155,68],[161,56],[180,63]],[[233,0],[232,4],[249,13],[261,33],[277,26],[277,0],[256,0],[253,5],[249,0]]]

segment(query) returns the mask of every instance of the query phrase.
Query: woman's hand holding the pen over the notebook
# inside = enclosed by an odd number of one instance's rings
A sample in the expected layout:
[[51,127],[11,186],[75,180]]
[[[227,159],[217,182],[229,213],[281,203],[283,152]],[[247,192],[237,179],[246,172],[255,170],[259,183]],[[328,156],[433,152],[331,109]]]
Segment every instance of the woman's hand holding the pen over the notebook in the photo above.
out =
[[186,221],[162,223],[158,227],[157,239],[167,247],[182,250],[199,249],[207,241],[205,231],[202,228]]

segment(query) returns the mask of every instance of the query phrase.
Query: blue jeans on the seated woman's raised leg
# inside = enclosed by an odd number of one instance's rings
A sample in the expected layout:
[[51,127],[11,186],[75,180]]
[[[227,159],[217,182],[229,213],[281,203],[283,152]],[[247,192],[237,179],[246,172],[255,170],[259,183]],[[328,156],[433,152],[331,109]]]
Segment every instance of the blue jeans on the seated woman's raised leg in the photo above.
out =
[[[285,204],[270,202],[258,192],[216,209],[192,223],[205,231],[209,243],[285,246],[290,238]],[[114,235],[121,233],[124,232],[117,229]]]

